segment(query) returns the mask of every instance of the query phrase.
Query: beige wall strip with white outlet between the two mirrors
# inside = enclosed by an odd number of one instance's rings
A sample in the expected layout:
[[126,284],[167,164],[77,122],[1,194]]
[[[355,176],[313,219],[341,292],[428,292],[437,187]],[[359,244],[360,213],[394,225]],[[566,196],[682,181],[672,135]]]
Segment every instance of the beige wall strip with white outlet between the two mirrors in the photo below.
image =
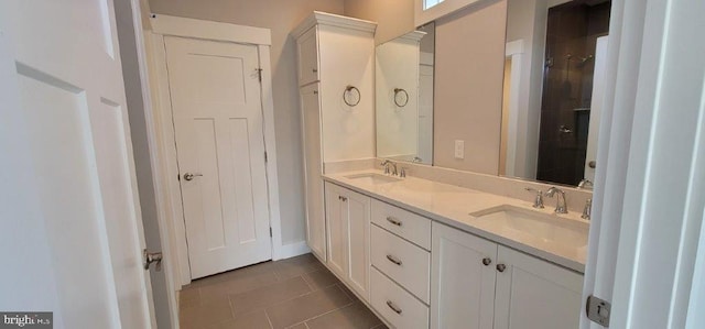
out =
[[507,1],[495,0],[436,22],[434,165],[498,174],[506,21]]

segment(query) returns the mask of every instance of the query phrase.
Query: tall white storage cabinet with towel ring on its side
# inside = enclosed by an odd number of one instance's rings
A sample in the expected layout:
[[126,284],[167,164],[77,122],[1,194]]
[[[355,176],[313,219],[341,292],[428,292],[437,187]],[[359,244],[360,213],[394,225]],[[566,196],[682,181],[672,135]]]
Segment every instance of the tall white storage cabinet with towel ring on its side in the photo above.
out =
[[306,196],[306,242],[324,262],[324,163],[375,157],[375,30],[368,21],[313,12],[296,39]]

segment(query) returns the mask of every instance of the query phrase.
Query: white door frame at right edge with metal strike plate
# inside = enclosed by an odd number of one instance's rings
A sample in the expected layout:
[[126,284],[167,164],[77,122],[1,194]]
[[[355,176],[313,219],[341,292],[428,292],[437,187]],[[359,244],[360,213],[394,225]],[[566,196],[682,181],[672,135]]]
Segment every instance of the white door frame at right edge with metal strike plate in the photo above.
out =
[[604,328],[585,315],[589,295],[611,301],[611,328],[705,322],[693,311],[705,301],[703,8],[612,1],[583,329]]

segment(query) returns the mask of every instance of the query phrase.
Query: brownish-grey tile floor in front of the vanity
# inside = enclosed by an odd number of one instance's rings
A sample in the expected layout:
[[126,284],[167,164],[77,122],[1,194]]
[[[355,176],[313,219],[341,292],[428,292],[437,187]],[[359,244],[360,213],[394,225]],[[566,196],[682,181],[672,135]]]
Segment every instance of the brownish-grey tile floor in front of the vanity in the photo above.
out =
[[194,281],[180,300],[182,329],[387,328],[312,254]]

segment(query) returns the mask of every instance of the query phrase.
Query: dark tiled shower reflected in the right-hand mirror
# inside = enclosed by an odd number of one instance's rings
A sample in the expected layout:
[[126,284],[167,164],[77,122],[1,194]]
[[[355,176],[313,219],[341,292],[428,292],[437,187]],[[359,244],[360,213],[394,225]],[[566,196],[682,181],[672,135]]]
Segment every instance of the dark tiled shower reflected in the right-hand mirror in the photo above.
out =
[[[539,180],[583,178],[597,37],[609,29],[610,2],[572,1],[549,10],[541,106]],[[594,3],[595,1],[592,1]],[[568,54],[571,55],[568,57]],[[561,132],[561,127],[572,132]]]

